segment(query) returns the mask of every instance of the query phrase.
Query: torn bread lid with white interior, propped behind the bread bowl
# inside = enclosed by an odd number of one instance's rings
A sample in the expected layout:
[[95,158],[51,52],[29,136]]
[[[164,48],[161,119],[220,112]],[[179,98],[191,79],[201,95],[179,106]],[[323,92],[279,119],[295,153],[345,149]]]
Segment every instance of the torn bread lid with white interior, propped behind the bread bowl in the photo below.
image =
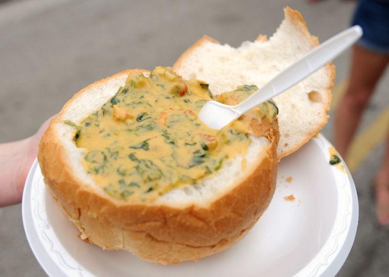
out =
[[[298,11],[287,7],[284,12],[285,19],[269,40],[260,35],[235,49],[204,36],[182,54],[173,70],[183,78],[209,83],[214,94],[243,84],[261,87],[319,44]],[[274,98],[279,109],[278,159],[304,145],[327,123],[334,79],[335,67],[329,63]]]

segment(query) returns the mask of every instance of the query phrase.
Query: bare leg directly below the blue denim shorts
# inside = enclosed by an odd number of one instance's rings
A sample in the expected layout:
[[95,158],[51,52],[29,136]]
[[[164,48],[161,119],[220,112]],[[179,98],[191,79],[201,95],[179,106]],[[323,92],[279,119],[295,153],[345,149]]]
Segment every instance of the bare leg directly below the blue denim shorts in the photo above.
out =
[[349,85],[335,114],[334,144],[343,158],[347,158],[362,111],[388,62],[387,55],[376,54],[358,45],[353,47]]

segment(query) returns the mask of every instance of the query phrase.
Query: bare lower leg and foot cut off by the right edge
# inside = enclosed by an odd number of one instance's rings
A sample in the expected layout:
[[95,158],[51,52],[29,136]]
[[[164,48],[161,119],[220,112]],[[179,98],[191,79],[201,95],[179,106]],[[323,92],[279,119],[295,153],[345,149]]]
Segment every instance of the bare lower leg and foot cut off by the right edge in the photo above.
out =
[[386,140],[385,152],[381,167],[375,179],[378,222],[389,224],[389,136]]

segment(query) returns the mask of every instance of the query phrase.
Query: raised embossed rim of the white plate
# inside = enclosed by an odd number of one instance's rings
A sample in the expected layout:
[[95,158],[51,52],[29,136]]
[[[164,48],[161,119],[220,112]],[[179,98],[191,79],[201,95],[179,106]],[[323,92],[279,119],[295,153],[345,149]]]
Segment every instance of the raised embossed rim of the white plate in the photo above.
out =
[[[325,136],[319,133],[316,137],[313,137],[310,141],[313,141],[316,144],[318,144],[320,150],[325,155],[325,157],[328,158],[330,157],[330,154],[328,153],[329,152],[328,149],[329,147],[333,147],[333,146],[326,139]],[[358,225],[358,216],[359,216],[358,196],[356,193],[355,183],[350,174],[350,171],[345,165],[342,157],[340,157],[340,159],[346,173],[340,172],[336,167],[331,167],[331,170],[332,173],[334,174],[335,180],[343,179],[343,184],[341,188],[342,191],[344,192],[343,199],[342,199],[343,201],[339,201],[339,189],[337,189],[337,194],[338,194],[337,211],[339,211],[339,208],[342,209],[340,205],[344,204],[345,213],[340,215],[339,212],[337,212],[334,220],[334,224],[331,228],[331,232],[328,238],[326,239],[325,243],[323,243],[323,245],[316,253],[316,255],[312,258],[312,260],[310,260],[304,268],[301,268],[297,273],[295,273],[294,276],[335,276],[337,272],[340,270],[340,268],[342,267],[342,265],[344,264],[345,260],[347,259],[351,251],[352,245],[354,243],[356,231],[357,231],[357,225]],[[25,189],[22,198],[22,205],[21,205],[23,226],[25,229],[27,241],[30,245],[32,252],[34,253],[36,260],[38,261],[42,269],[44,269],[44,271],[49,276],[68,276],[67,273],[69,273],[69,269],[76,270],[77,275],[79,276],[84,276],[85,273],[86,275],[93,275],[89,271],[85,270],[81,265],[79,265],[77,261],[73,261],[73,262],[77,263],[78,267],[68,266],[68,270],[66,270],[66,268],[63,267],[63,265],[61,267],[56,261],[54,261],[53,256],[48,253],[41,239],[39,238],[38,230],[36,229],[36,226],[34,224],[33,212],[31,209],[32,208],[31,207],[32,186],[33,186],[33,180],[36,175],[38,166],[39,166],[38,161],[35,158],[34,163],[32,164],[26,179]],[[336,183],[338,184],[338,181],[336,181]],[[344,202],[345,200],[344,197],[348,198],[347,202]],[[341,218],[339,219],[339,217]],[[339,224],[336,223],[337,222],[339,223],[340,221],[342,221],[342,225],[339,226]],[[336,227],[340,229],[334,230]],[[59,244],[62,246],[60,241]],[[330,252],[328,252],[328,248],[331,249]],[[51,250],[55,251],[52,248]],[[63,250],[67,251],[64,248]],[[61,256],[59,252],[56,253],[56,255]],[[321,259],[320,257],[321,258],[324,257],[324,259]],[[73,260],[73,258],[71,259]],[[316,263],[313,264],[315,260]],[[75,273],[75,271],[73,271],[73,273]]]

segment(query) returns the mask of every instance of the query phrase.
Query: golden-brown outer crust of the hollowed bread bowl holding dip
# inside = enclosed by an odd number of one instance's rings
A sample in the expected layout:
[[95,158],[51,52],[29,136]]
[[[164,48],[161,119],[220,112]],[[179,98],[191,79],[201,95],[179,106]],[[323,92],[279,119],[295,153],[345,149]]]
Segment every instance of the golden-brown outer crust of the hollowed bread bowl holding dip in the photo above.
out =
[[198,260],[242,239],[266,210],[276,184],[275,119],[265,132],[270,142],[263,159],[247,169],[235,186],[208,205],[177,207],[156,203],[128,203],[106,195],[74,174],[68,150],[59,139],[62,114],[85,91],[126,70],[80,90],[55,116],[42,136],[38,161],[44,181],[64,213],[80,230],[80,237],[103,249],[125,249],[160,264]]

